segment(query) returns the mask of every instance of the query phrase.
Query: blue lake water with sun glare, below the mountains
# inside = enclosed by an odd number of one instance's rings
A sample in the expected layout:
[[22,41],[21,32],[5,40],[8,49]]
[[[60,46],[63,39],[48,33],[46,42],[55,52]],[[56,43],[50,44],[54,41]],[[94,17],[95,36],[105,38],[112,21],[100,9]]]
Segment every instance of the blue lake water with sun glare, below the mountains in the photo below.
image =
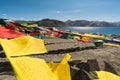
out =
[[120,35],[120,27],[57,27],[63,30],[71,30],[86,33],[101,33]]

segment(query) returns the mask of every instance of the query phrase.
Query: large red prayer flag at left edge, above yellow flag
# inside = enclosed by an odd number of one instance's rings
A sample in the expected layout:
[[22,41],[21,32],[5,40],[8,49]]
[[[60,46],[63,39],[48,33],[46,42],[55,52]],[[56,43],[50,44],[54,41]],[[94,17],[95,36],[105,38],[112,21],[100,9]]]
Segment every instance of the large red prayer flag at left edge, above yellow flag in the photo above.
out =
[[21,36],[25,36],[25,34],[0,26],[0,38],[17,38]]

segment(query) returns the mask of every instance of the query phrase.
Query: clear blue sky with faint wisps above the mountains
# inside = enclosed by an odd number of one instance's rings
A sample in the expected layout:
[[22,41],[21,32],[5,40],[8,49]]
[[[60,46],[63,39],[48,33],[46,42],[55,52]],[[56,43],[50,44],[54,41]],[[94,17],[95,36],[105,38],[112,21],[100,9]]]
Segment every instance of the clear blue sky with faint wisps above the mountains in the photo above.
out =
[[120,21],[120,0],[0,0],[0,18]]

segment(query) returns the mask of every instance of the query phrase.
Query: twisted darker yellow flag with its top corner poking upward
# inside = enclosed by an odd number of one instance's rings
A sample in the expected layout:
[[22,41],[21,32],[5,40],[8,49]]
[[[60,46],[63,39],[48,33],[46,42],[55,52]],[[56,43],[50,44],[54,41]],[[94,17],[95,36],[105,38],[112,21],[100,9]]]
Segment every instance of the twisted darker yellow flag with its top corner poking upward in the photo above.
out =
[[56,76],[56,80],[71,80],[70,66],[68,64],[70,57],[69,54],[66,54],[60,63],[54,63],[53,61],[48,63]]

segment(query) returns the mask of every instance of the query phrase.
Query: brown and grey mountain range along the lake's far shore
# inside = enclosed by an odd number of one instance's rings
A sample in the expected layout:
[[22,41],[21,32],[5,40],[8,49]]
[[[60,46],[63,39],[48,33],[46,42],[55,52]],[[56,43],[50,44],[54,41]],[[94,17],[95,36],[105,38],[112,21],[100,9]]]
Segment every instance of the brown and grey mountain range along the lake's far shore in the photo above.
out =
[[[26,21],[21,21],[26,22]],[[43,19],[39,21],[27,21],[29,23],[36,23],[38,26],[48,27],[63,27],[63,26],[91,26],[91,27],[120,27],[120,22],[106,22],[106,21],[87,21],[87,20],[67,20],[65,22],[55,19]]]

